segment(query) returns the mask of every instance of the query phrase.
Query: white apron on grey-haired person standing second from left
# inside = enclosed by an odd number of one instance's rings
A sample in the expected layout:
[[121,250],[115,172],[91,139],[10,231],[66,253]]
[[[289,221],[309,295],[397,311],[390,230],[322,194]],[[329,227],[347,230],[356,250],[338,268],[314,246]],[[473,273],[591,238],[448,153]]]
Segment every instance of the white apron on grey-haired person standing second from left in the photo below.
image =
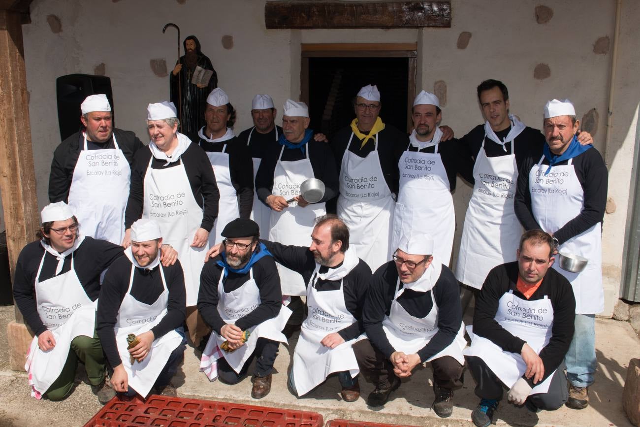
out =
[[163,243],[177,250],[184,271],[187,307],[191,307],[198,303],[200,270],[209,250],[208,244],[203,248],[191,247],[202,223],[202,207],[193,197],[182,163],[170,168],[152,169],[153,159],[151,156],[145,174],[142,218],[155,220],[162,231]]

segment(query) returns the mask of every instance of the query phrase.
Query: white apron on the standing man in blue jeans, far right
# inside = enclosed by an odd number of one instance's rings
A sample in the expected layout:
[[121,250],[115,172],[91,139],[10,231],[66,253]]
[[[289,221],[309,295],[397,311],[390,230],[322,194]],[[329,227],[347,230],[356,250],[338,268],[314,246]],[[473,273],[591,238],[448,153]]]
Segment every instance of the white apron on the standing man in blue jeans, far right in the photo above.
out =
[[[584,209],[584,190],[575,174],[572,160],[568,164],[556,165],[545,176],[548,165],[542,160],[529,172],[531,208],[536,222],[543,230],[554,233],[575,218]],[[568,252],[589,260],[581,273],[572,273],[555,268],[567,278],[573,287],[576,314],[596,314],[604,310],[604,289],[602,288],[602,229],[598,222],[582,234],[559,246],[558,252]]]

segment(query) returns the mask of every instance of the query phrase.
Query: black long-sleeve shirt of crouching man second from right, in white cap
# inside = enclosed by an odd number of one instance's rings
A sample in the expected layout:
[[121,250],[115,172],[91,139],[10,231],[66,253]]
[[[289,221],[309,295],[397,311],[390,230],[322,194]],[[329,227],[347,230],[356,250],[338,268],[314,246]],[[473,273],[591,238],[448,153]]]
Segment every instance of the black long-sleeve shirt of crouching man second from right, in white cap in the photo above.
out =
[[[364,303],[362,318],[367,331],[369,341],[380,350],[387,359],[396,351],[387,339],[382,328],[382,321],[391,311],[391,303],[394,300],[398,272],[396,264],[389,261],[382,264],[371,278],[369,292]],[[398,289],[403,288],[400,282]],[[438,332],[417,354],[420,361],[424,362],[429,357],[440,353],[453,342],[460,331],[462,324],[462,310],[460,306],[460,287],[458,281],[447,266],[442,266],[442,273],[436,280],[431,291],[419,292],[413,289],[406,291],[398,297],[397,302],[414,318],[426,317],[433,308],[433,300],[438,306]]]

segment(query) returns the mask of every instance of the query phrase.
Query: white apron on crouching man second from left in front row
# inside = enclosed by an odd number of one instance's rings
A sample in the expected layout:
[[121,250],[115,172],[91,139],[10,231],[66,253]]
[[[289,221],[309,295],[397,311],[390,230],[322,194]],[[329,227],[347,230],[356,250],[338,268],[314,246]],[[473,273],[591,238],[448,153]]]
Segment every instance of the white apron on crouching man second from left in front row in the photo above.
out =
[[161,264],[158,268],[160,269],[164,291],[158,296],[156,302],[148,305],[133,298],[131,296],[131,287],[135,268],[132,264],[129,289],[127,289],[127,294],[122,298],[114,330],[118,354],[129,378],[129,387],[134,389],[140,396],[145,397],[151,387],[154,386],[154,383],[156,383],[172,351],[182,342],[182,337],[175,330],[167,332],[163,336],[154,339],[147,357],[142,362],[136,360],[131,364],[129,350],[127,350],[127,335],[140,335],[160,323],[167,312],[166,307],[169,300],[169,291],[166,287],[164,270]]

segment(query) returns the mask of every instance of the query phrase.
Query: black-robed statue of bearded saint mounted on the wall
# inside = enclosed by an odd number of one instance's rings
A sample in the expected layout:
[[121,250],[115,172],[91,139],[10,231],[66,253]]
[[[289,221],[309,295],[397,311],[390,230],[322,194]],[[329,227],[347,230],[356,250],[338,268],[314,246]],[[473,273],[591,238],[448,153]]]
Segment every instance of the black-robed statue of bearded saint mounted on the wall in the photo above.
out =
[[[173,67],[169,76],[170,100],[178,110],[178,118],[184,134],[196,134],[204,126],[204,111],[207,95],[218,87],[218,74],[211,61],[200,52],[200,42],[196,36],[188,36],[182,42],[184,55]],[[209,85],[194,85],[191,83],[196,67],[212,70]]]

